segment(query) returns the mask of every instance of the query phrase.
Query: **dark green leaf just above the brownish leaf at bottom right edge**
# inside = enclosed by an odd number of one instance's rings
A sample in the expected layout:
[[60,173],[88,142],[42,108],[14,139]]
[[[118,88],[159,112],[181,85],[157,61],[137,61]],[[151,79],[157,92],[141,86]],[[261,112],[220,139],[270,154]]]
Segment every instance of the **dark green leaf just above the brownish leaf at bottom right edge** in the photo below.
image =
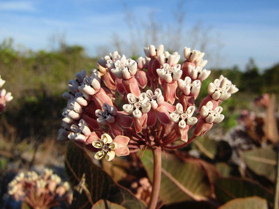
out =
[[228,202],[235,198],[259,196],[273,201],[271,191],[263,188],[251,180],[241,178],[219,178],[215,182],[215,194],[222,202]]

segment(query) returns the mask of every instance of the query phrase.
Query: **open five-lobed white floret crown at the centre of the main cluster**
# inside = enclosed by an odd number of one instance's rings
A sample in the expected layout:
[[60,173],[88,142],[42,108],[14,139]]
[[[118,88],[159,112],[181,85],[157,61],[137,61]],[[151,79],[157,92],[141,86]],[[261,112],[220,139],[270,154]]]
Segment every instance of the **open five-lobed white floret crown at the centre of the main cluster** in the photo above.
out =
[[127,95],[127,100],[129,104],[123,105],[123,110],[126,113],[133,114],[133,116],[139,119],[142,113],[147,113],[150,111],[151,104],[147,102],[146,93],[141,93],[139,95],[139,101],[137,102],[135,96],[131,93]]

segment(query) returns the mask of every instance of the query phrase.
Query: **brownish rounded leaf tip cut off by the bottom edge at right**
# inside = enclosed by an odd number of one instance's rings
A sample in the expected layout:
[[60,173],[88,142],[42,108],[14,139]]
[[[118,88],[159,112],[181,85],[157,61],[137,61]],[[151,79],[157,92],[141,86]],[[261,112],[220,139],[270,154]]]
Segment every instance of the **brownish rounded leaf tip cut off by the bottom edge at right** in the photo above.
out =
[[268,209],[268,202],[266,199],[254,196],[247,198],[236,198],[228,201],[218,209]]

